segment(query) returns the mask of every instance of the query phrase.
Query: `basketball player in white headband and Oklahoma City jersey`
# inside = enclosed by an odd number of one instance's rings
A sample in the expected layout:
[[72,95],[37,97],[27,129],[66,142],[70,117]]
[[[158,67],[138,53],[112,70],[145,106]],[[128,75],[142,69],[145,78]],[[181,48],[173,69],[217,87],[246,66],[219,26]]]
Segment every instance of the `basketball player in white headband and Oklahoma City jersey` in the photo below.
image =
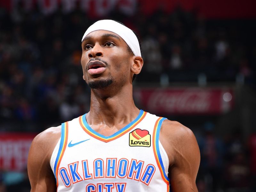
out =
[[197,191],[194,134],[134,105],[132,79],[143,59],[132,30],[97,21],[86,30],[82,50],[90,111],[33,140],[31,191],[168,192],[169,184],[175,192]]

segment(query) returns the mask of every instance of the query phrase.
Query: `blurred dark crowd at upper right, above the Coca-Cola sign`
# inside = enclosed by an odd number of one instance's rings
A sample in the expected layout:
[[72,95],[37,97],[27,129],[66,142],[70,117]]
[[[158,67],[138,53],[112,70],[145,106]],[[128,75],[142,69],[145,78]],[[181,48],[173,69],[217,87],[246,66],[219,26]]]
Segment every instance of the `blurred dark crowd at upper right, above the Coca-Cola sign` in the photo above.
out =
[[146,63],[143,79],[151,72],[156,77],[153,81],[165,75],[169,82],[203,78],[255,84],[256,28],[251,21],[205,20],[177,8],[168,16],[156,12],[140,26],[144,29],[139,31]]

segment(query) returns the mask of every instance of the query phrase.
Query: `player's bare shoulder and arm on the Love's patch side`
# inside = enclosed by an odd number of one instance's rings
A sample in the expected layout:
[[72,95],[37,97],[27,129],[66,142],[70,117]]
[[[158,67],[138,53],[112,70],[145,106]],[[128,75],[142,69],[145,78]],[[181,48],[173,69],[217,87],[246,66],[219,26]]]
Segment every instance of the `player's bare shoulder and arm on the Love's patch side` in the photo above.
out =
[[169,157],[172,191],[198,191],[196,175],[200,164],[200,152],[193,132],[178,122],[165,120],[160,137]]

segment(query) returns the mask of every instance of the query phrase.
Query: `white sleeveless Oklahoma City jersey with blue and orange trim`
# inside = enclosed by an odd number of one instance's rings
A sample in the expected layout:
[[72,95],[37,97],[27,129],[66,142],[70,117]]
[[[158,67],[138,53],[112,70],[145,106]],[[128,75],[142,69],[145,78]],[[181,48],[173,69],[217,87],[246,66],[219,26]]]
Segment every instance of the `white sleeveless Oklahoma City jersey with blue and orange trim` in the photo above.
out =
[[140,110],[108,137],[88,125],[86,114],[63,123],[50,162],[57,192],[169,192],[169,160],[159,141],[164,119]]

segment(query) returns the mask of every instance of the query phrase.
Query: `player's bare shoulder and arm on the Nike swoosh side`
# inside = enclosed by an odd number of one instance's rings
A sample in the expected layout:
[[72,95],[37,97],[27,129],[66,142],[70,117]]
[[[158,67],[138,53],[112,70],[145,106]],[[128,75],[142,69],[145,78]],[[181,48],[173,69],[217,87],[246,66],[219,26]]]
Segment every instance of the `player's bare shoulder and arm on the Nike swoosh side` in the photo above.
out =
[[50,166],[52,151],[60,138],[60,127],[38,134],[28,153],[28,177],[31,192],[56,192],[56,181]]

